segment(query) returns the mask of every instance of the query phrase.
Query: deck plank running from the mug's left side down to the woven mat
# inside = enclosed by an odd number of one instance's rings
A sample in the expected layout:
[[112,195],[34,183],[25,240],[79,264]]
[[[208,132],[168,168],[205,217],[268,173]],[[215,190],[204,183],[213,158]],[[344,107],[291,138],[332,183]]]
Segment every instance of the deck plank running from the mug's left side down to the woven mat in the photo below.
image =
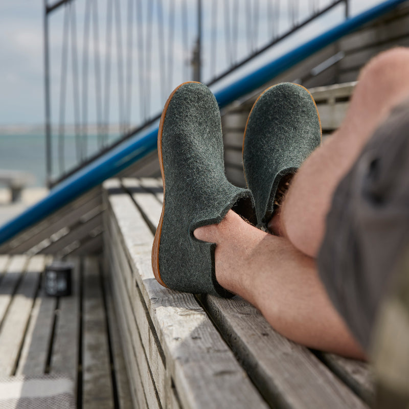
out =
[[[44,264],[50,262],[45,256],[37,257],[43,257]],[[16,375],[40,376],[46,372],[56,305],[57,299],[48,297],[41,288],[31,311]]]

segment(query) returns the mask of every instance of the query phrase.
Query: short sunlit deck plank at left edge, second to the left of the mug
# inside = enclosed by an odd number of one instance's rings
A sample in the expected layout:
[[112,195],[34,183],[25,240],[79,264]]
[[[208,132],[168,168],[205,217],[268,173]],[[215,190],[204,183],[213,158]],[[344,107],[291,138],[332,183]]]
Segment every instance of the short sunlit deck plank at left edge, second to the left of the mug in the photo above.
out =
[[0,292],[0,325],[3,324],[4,316],[9,308],[13,293],[20,276],[24,271],[27,260],[28,257],[24,255],[10,257],[7,271],[5,272],[0,283],[2,288],[2,291]]

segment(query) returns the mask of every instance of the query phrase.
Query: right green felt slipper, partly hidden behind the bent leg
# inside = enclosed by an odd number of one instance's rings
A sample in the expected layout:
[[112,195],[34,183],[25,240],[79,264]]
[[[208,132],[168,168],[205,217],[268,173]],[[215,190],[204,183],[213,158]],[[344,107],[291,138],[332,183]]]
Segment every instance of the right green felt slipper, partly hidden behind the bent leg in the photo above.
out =
[[320,143],[320,118],[304,87],[281,83],[256,101],[244,134],[243,166],[259,226],[272,216],[281,178],[295,173]]

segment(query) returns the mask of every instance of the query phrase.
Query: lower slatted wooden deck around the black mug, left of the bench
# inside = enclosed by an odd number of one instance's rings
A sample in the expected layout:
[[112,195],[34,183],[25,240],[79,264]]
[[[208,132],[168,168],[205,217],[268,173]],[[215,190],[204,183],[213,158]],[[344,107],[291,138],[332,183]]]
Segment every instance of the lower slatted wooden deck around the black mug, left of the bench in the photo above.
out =
[[[47,297],[41,285],[51,260],[0,255],[0,388],[14,383],[24,391],[26,380],[60,376],[72,385],[69,407],[130,409],[129,380],[102,259],[73,258],[72,295],[60,298]],[[0,394],[2,407],[4,399]],[[42,402],[36,407],[60,406]]]

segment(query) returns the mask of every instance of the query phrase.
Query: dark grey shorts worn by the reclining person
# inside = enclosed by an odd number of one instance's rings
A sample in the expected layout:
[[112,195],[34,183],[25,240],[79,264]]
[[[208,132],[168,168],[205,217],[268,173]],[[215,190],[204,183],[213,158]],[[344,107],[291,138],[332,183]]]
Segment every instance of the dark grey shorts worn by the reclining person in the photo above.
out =
[[367,351],[378,307],[409,242],[409,100],[374,133],[335,190],[317,257],[335,308]]

